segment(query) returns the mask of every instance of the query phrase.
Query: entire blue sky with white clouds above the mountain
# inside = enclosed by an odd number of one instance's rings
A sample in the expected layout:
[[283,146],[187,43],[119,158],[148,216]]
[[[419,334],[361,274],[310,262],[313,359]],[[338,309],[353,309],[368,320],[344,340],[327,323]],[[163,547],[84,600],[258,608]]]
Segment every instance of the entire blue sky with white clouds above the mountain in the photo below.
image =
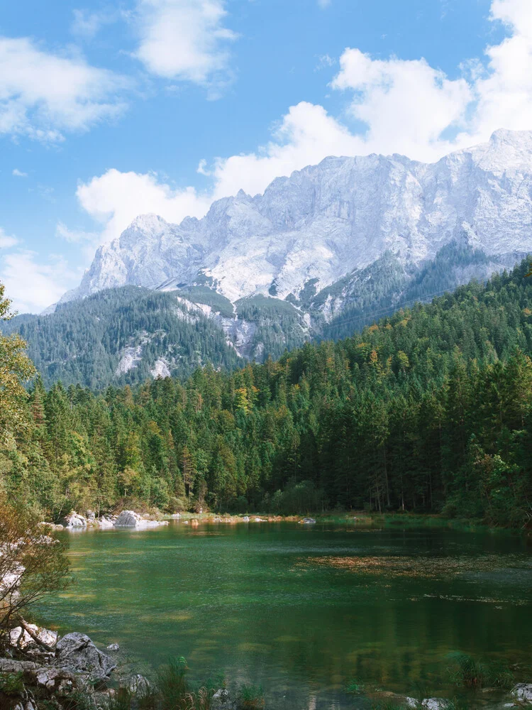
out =
[[0,281],[40,312],[138,214],[500,128],[532,129],[531,0],[4,4]]

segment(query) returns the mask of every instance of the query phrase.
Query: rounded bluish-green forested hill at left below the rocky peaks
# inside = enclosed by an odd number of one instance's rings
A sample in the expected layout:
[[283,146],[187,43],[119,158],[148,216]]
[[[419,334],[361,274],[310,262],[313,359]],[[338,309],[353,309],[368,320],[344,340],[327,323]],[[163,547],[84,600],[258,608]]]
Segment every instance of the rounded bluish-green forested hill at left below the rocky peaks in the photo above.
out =
[[60,305],[51,315],[18,316],[1,329],[26,339],[45,385],[61,380],[98,389],[241,361],[201,308],[176,293],[133,286]]

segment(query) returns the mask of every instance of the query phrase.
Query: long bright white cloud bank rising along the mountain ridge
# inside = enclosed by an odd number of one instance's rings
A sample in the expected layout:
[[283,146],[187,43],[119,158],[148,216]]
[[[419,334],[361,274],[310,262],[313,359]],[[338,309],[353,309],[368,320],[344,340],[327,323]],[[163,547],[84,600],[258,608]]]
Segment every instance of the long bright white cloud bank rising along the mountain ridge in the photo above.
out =
[[[447,77],[424,59],[375,59],[346,49],[332,85],[348,94],[352,131],[323,107],[301,102],[290,107],[255,153],[218,158],[198,172],[211,178],[209,194],[192,187],[174,190],[155,175],[109,170],[77,196],[103,225],[110,239],[143,212],[172,222],[188,214],[201,217],[211,200],[240,188],[262,192],[276,177],[289,175],[327,155],[403,153],[437,160],[457,148],[487,141],[499,128],[532,129],[532,13],[530,0],[493,0],[492,20],[502,21],[509,36],[486,49],[484,65],[468,62],[460,76]],[[360,128],[361,126],[361,128]]]

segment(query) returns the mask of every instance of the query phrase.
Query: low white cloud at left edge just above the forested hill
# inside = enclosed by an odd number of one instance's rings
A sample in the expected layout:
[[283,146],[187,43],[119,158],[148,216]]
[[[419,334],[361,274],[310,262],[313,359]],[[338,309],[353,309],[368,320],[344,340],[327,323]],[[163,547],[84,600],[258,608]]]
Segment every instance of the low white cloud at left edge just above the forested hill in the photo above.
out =
[[39,263],[38,254],[26,249],[0,256],[0,281],[13,301],[13,309],[20,313],[44,310],[76,285],[79,277],[79,272],[70,270],[60,257]]

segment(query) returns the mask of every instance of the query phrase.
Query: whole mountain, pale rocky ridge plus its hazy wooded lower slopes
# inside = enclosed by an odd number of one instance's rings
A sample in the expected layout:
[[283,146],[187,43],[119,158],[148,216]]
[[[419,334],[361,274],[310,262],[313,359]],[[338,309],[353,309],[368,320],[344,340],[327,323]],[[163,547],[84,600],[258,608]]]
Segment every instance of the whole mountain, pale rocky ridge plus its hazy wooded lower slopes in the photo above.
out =
[[[98,249],[55,313],[4,330],[23,332],[49,378],[183,375],[347,337],[529,251],[532,131],[501,130],[433,164],[326,158],[263,195],[218,200],[203,219],[141,215]],[[97,360],[79,326],[96,317]]]

